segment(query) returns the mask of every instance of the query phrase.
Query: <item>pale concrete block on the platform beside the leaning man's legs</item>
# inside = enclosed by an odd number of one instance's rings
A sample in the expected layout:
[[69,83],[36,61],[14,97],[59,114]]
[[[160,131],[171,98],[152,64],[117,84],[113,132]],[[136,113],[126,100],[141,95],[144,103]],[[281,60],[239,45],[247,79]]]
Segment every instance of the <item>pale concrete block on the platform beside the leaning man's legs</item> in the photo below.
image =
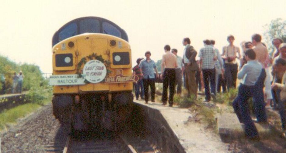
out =
[[221,141],[230,142],[243,135],[242,124],[234,113],[225,113],[218,116],[218,133]]

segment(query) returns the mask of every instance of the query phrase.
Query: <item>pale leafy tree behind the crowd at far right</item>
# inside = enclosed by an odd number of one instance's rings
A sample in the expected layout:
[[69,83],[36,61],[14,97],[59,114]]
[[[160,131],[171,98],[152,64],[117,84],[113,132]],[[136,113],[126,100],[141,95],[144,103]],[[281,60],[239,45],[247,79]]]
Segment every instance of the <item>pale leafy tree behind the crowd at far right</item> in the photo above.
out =
[[268,51],[271,51],[272,54],[276,49],[272,45],[272,40],[274,38],[281,38],[284,42],[286,42],[286,20],[277,18],[271,20],[270,24],[266,24],[263,27],[266,30],[263,35],[267,42]]

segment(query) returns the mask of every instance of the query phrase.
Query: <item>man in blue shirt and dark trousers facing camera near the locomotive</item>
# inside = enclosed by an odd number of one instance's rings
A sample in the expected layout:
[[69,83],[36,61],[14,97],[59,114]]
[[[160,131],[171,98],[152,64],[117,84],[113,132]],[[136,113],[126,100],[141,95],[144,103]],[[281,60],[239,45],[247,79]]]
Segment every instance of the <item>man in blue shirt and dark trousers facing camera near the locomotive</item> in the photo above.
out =
[[144,98],[146,104],[148,104],[149,100],[149,85],[151,88],[151,101],[155,102],[155,72],[156,78],[159,78],[155,62],[150,58],[150,56],[151,52],[147,51],[145,53],[146,58],[143,59],[139,64],[141,75],[143,75]]

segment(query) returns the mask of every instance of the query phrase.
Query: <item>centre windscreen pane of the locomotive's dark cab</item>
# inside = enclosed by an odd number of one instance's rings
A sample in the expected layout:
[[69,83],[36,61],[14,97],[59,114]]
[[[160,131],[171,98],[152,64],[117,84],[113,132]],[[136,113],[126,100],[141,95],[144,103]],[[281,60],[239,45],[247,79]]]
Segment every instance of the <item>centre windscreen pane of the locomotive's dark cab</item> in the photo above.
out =
[[79,33],[100,33],[100,23],[95,19],[85,19],[79,22]]

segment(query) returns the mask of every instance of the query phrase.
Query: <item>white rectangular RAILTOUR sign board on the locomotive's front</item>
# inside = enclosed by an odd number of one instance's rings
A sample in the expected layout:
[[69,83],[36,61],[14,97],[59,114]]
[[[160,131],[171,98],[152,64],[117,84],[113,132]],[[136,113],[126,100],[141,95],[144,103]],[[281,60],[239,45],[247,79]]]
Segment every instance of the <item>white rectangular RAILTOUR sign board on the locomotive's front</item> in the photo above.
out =
[[85,85],[84,78],[78,75],[51,75],[49,85]]

